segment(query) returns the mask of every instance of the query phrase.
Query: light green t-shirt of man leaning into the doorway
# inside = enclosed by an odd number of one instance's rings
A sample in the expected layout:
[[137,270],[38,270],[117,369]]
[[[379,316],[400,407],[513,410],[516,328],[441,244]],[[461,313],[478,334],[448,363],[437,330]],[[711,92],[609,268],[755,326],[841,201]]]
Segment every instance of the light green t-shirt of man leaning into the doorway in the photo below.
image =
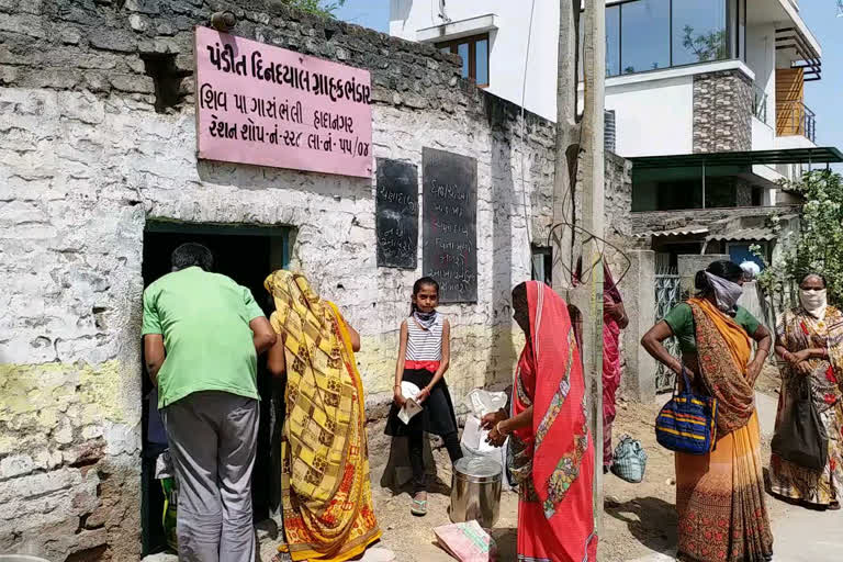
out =
[[249,322],[263,316],[251,291],[193,267],[144,291],[144,335],[164,335],[158,407],[188,394],[224,391],[259,400]]

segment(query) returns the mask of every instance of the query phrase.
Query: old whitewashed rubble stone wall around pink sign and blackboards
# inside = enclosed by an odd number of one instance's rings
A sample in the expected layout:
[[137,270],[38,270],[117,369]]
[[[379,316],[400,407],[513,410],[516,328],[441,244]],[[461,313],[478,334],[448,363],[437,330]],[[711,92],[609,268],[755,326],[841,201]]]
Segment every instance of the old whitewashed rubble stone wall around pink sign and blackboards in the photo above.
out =
[[[376,267],[370,179],[196,159],[193,29],[223,9],[237,35],[369,69],[375,157],[419,175],[426,146],[476,158],[479,302],[442,308],[448,380],[457,400],[510,381],[508,294],[547,239],[552,123],[521,123],[457,56],[274,0],[0,0],[0,552],[139,558],[148,220],[292,227],[292,266],[363,335],[370,413],[390,400],[420,259]],[[619,233],[628,199],[607,207]]]

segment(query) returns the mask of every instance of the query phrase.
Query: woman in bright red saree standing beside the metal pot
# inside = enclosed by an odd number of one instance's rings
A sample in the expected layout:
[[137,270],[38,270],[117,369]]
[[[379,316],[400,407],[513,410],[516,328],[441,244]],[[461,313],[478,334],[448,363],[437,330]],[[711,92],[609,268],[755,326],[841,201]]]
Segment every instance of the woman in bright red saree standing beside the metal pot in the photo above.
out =
[[588,436],[580,349],[567,304],[548,285],[513,290],[515,319],[527,342],[518,361],[512,416],[483,418],[488,440],[509,436],[509,471],[518,482],[518,560],[597,560]]

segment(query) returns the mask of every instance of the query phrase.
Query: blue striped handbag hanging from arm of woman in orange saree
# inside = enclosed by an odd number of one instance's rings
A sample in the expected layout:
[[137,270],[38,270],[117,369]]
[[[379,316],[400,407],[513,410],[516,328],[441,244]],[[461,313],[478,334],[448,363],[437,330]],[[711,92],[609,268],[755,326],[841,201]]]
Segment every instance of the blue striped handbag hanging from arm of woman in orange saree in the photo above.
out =
[[717,398],[694,393],[684,368],[682,376],[685,392],[678,391],[677,381],[673,397],[655,418],[655,440],[672,451],[706,454],[717,440]]

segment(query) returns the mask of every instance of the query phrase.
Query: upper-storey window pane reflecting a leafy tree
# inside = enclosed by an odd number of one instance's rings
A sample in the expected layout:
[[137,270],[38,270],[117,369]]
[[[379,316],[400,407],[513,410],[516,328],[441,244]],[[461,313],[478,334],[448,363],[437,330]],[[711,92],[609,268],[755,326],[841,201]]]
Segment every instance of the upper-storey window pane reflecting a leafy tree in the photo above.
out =
[[673,65],[729,58],[726,2],[673,2]]

